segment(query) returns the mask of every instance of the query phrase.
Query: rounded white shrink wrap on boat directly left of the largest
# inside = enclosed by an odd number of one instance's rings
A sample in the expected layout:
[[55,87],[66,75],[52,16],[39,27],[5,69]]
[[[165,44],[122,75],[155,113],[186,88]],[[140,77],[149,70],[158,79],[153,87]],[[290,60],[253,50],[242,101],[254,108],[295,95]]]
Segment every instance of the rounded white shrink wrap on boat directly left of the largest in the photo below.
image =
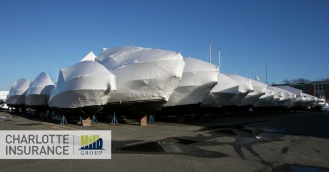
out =
[[115,90],[114,74],[95,61],[82,61],[61,69],[48,105],[59,109],[103,106]]

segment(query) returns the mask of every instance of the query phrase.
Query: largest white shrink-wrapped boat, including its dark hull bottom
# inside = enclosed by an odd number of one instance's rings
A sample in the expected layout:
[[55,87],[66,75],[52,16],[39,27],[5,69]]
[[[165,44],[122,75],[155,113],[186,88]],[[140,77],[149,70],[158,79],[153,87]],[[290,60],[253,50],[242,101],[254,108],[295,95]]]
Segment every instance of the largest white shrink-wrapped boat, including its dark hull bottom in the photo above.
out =
[[132,46],[104,48],[95,61],[117,76],[118,89],[107,105],[119,114],[157,112],[177,88],[185,66],[178,52]]

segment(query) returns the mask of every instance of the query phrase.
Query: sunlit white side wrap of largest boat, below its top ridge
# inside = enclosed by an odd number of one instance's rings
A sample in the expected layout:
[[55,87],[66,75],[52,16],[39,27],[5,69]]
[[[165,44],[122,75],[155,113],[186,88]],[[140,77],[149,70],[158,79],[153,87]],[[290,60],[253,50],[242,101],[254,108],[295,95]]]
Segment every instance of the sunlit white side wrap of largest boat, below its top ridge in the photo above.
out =
[[150,61],[112,70],[117,76],[117,90],[108,103],[129,102],[143,97],[168,100],[181,79],[182,64],[182,60]]

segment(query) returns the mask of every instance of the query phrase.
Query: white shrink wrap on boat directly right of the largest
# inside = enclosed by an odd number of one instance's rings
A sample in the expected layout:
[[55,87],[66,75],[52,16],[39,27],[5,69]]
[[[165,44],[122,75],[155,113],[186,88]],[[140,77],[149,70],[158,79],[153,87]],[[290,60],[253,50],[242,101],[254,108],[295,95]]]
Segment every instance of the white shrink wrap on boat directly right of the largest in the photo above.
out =
[[217,84],[218,66],[194,58],[183,59],[182,79],[163,107],[199,105]]

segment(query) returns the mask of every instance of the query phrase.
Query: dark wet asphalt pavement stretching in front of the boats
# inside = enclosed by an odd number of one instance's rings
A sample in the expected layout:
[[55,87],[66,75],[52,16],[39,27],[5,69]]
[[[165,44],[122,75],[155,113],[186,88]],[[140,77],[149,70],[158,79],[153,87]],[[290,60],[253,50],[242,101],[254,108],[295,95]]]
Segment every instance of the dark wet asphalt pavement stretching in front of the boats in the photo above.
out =
[[[5,112],[0,112],[0,120],[1,130],[109,129],[113,154],[106,161],[0,160],[0,171],[29,171],[32,164],[40,171],[57,171],[67,163],[64,171],[86,170],[86,162],[99,170],[119,171],[329,171],[329,115],[322,112],[225,116],[147,127],[104,122],[60,126]],[[52,165],[47,166],[49,161]]]

